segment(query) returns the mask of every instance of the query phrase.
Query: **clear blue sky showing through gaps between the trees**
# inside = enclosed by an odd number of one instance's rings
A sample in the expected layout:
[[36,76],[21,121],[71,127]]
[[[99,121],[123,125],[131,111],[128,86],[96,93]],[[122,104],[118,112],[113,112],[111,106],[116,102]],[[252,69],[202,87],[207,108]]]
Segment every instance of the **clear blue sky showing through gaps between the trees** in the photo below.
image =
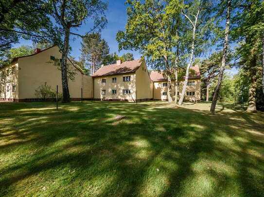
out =
[[[123,53],[130,52],[133,53],[135,59],[139,59],[141,54],[138,51],[128,51],[122,50],[118,51],[118,43],[116,41],[116,34],[118,30],[124,30],[127,16],[126,16],[126,6],[124,4],[125,0],[108,0],[108,10],[106,11],[106,17],[108,23],[106,28],[102,30],[102,38],[106,40],[109,45],[110,53],[117,52],[120,56]],[[91,23],[87,21],[86,24],[83,24],[82,27],[77,30],[73,30],[73,32],[78,32],[79,34],[85,34],[91,28]],[[20,43],[16,44],[15,47],[20,45],[32,45],[31,41],[20,40]],[[70,53],[71,56],[75,57],[77,60],[81,55],[81,38],[77,38],[76,36],[71,36],[70,46],[72,51]],[[212,47],[212,50],[215,47]],[[236,69],[229,70],[231,74],[237,73]]]

